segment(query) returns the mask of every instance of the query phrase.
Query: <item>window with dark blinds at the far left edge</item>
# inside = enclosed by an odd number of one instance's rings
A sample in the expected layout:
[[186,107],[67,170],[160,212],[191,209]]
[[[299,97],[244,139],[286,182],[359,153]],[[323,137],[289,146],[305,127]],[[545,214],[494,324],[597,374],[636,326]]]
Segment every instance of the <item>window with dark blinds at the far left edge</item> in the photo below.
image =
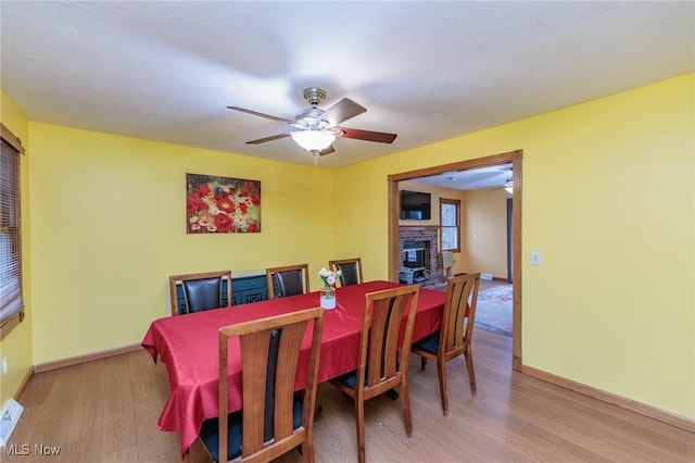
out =
[[24,318],[20,153],[22,142],[2,125],[0,150],[0,337]]

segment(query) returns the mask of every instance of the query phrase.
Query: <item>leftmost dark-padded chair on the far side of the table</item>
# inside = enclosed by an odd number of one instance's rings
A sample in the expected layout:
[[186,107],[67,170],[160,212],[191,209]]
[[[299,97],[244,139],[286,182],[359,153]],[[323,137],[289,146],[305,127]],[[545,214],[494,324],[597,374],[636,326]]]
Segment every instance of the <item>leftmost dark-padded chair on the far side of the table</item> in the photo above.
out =
[[[181,287],[179,299],[177,286]],[[172,315],[202,312],[232,305],[231,271],[169,276]]]

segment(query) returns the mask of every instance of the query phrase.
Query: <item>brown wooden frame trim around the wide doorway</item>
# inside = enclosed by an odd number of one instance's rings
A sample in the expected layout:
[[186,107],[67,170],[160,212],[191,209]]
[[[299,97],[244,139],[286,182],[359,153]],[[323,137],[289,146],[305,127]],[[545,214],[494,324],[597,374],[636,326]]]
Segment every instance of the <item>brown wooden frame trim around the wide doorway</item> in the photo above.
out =
[[400,220],[400,195],[399,183],[415,180],[421,177],[441,175],[448,172],[470,171],[481,167],[495,166],[511,163],[511,208],[509,240],[510,268],[509,274],[514,277],[513,285],[513,329],[511,329],[511,367],[514,371],[521,371],[521,160],[523,150],[515,150],[501,154],[477,158],[467,161],[443,164],[433,167],[426,167],[416,171],[392,174],[388,177],[389,192],[389,279],[399,281],[399,270],[401,265],[400,243],[399,243],[399,220]]

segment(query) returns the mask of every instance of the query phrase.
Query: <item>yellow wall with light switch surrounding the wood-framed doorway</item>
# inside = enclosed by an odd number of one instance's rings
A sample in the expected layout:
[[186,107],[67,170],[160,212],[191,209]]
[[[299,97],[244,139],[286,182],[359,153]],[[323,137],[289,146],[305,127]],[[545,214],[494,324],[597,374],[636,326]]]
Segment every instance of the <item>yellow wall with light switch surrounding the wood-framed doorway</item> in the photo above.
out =
[[342,168],[336,250],[386,275],[388,175],[523,149],[523,364],[695,418],[694,79]]

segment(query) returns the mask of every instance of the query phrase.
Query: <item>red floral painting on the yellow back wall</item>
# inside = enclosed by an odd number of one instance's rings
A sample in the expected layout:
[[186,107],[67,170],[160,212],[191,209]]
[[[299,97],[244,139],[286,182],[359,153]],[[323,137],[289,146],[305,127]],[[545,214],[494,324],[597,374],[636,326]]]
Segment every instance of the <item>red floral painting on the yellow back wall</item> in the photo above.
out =
[[186,174],[189,234],[260,233],[261,182]]

